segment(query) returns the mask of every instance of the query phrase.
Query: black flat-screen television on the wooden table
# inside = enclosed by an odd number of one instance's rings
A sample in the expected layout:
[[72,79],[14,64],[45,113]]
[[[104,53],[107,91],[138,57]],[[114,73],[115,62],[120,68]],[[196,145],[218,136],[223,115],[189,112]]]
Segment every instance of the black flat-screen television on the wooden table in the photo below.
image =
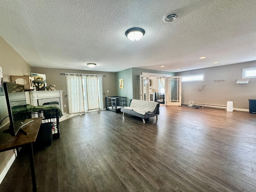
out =
[[4,82],[4,93],[10,119],[10,127],[8,131],[12,136],[16,136],[22,127],[34,120],[27,119],[29,114],[26,105],[24,85]]

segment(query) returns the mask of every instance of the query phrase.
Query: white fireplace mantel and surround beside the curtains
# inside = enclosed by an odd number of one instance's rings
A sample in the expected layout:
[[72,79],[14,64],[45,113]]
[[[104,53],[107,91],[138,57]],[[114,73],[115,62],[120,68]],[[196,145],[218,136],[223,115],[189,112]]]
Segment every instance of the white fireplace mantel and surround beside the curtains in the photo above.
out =
[[62,92],[63,90],[56,90],[56,91],[30,91],[30,102],[31,105],[38,106],[42,105],[40,102],[46,101],[51,99],[52,101],[58,101],[60,103],[60,109],[62,113],[63,111],[63,99],[62,99]]

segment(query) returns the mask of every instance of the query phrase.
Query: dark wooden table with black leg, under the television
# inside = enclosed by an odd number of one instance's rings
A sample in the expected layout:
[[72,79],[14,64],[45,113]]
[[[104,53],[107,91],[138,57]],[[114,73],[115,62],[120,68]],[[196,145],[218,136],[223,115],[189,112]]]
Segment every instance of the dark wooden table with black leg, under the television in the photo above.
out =
[[42,117],[34,118],[34,121],[22,129],[28,133],[28,135],[18,132],[16,136],[11,136],[9,133],[3,131],[9,128],[9,125],[4,126],[0,130],[0,152],[8,151],[22,146],[28,146],[29,158],[30,158],[30,170],[32,177],[33,191],[36,192],[36,174],[34,167],[34,154],[33,154],[33,143],[36,141],[38,130],[42,122]]

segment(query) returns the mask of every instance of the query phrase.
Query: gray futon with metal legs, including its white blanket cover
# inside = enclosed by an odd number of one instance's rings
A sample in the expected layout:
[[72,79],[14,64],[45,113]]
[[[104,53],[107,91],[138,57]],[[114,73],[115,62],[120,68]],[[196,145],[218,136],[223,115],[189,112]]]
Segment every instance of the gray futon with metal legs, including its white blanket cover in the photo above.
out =
[[143,123],[145,123],[145,119],[148,119],[150,117],[154,117],[159,115],[159,103],[154,101],[143,101],[143,100],[137,100],[132,99],[130,101],[129,107],[121,108],[121,112],[134,115],[137,117],[141,117]]

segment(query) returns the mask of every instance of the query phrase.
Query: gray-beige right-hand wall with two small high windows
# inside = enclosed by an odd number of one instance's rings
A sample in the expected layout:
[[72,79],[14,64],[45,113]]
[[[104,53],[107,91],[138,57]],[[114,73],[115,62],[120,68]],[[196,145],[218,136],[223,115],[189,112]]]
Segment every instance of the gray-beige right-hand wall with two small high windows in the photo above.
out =
[[243,68],[252,67],[256,67],[256,61],[178,72],[176,76],[204,73],[204,82],[182,83],[182,102],[226,106],[227,101],[233,101],[234,108],[249,109],[248,99],[256,99],[256,78],[250,78],[248,84],[236,81],[242,78]]

